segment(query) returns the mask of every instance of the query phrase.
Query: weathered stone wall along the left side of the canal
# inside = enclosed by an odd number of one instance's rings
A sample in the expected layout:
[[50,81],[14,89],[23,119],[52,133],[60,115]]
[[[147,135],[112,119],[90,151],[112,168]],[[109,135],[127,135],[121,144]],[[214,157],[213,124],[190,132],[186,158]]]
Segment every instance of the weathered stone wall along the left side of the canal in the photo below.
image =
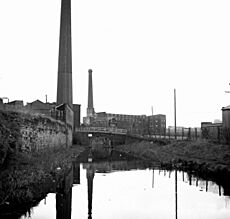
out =
[[0,141],[0,152],[35,152],[72,144],[72,127],[50,117],[0,111],[0,124],[0,137],[4,139]]

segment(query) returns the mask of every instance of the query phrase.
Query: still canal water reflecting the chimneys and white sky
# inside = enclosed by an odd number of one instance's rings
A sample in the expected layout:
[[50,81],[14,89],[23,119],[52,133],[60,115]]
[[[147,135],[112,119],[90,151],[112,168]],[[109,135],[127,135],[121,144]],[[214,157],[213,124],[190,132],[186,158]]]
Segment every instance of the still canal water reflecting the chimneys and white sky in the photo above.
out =
[[227,219],[229,190],[139,161],[74,161],[63,188],[21,219]]

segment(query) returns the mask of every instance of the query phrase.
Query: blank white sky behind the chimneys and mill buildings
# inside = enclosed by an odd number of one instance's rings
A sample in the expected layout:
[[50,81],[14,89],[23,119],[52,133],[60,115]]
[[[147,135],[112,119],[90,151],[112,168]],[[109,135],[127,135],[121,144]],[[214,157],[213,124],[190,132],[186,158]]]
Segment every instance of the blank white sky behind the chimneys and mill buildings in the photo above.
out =
[[[0,1],[0,97],[56,101],[60,0]],[[194,127],[230,105],[230,1],[72,0],[73,101]]]

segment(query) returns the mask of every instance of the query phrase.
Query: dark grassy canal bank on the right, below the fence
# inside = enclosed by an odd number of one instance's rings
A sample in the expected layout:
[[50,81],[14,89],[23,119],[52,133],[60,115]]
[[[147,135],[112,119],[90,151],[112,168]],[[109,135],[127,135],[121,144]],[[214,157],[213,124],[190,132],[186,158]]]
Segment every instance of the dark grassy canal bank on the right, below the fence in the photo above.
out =
[[195,172],[221,183],[230,181],[230,146],[207,141],[173,141],[167,144],[142,141],[120,145],[116,150],[162,168]]

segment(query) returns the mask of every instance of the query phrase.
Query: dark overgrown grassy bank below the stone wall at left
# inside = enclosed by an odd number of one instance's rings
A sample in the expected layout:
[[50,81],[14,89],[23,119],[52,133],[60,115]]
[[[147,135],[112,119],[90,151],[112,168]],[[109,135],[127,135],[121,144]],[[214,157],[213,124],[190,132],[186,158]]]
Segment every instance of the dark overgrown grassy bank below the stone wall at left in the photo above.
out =
[[71,168],[82,147],[17,153],[0,170],[0,215],[23,204],[28,209],[46,196],[50,185]]

